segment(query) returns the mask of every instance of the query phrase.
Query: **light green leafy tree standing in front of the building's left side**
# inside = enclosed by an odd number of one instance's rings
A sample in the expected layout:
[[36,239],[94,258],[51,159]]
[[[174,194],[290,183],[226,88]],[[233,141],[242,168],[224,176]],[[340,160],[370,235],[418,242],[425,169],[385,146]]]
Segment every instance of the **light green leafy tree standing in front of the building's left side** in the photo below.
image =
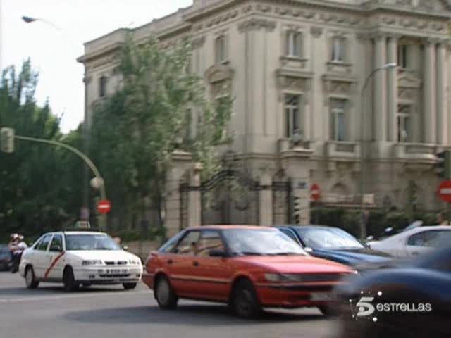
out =
[[[130,36],[118,65],[121,88],[94,109],[91,154],[111,199],[131,211],[132,223],[144,214],[147,199],[159,208],[178,144],[206,175],[219,168],[215,149],[228,141],[232,99],[209,99],[202,79],[187,71],[191,51],[188,40],[165,50],[155,37],[137,44]],[[194,110],[198,121],[192,121]],[[190,123],[197,123],[195,135]]]

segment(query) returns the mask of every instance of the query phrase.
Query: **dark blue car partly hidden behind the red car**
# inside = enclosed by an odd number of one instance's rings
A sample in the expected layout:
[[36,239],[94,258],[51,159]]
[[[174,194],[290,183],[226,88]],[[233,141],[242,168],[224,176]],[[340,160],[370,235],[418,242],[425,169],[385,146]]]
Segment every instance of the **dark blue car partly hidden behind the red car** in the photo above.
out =
[[387,253],[370,249],[338,227],[282,225],[278,229],[312,256],[350,265],[357,270],[385,267],[391,261]]

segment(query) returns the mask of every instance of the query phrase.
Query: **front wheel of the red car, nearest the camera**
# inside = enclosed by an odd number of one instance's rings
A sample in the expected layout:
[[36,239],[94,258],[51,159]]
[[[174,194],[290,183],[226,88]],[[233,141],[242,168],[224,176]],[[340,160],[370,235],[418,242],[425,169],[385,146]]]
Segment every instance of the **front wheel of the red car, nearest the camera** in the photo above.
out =
[[242,318],[255,318],[261,313],[261,306],[250,280],[240,280],[233,288],[232,308]]

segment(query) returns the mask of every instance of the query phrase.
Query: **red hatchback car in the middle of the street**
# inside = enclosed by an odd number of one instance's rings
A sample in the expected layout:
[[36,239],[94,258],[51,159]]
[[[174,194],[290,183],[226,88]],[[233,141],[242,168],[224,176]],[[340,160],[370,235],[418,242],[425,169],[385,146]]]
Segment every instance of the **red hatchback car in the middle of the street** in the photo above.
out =
[[204,226],[180,232],[150,253],[142,280],[160,308],[179,298],[229,303],[250,318],[263,307],[317,306],[327,314],[345,265],[309,256],[276,228]]

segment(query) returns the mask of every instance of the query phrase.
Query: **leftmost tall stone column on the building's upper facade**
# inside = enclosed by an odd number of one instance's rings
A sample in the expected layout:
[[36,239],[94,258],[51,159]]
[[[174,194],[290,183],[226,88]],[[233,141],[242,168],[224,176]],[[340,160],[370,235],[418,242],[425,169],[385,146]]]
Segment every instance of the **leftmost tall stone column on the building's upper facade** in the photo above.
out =
[[[377,35],[375,37],[375,55],[374,68],[381,68],[387,63],[386,61],[386,37],[385,35]],[[384,142],[387,140],[387,76],[385,71],[377,72],[374,75],[374,110],[373,110],[373,138],[376,142]]]

